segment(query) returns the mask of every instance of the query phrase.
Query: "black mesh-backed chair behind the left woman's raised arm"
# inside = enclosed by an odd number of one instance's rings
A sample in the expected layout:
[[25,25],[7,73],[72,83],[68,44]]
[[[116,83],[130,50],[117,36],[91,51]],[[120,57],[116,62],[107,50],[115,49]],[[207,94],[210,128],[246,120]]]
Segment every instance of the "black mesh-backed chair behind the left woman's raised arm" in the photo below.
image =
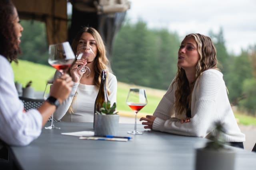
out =
[[[25,97],[19,97],[20,100],[24,104],[25,111],[28,111],[29,109],[37,109],[44,103],[44,99],[32,99],[32,98],[25,98]],[[48,121],[52,121],[52,116],[49,117]],[[53,119],[53,121],[56,121]]]

